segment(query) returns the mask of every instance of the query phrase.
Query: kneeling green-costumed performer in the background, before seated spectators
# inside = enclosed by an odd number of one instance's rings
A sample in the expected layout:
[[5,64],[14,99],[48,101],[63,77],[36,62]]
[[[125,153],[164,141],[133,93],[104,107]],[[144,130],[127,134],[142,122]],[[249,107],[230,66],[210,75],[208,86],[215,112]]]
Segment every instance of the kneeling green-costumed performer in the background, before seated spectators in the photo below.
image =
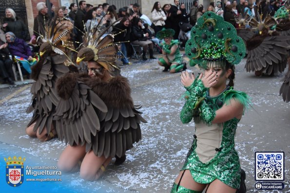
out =
[[182,63],[182,55],[179,52],[179,41],[173,39],[173,29],[163,28],[156,34],[158,39],[164,39],[162,45],[163,57],[159,58],[158,64],[164,67],[164,72],[170,70],[170,73],[186,70],[186,63]]

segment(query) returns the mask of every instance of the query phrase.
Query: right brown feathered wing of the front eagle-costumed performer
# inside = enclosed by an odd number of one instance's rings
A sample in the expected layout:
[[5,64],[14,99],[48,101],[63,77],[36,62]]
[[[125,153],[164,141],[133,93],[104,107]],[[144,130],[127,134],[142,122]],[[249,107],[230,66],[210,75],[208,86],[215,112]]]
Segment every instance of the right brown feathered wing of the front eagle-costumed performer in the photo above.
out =
[[86,151],[91,149],[100,157],[121,157],[141,140],[140,123],[147,123],[134,106],[130,96],[127,79],[114,77],[109,82],[88,82],[108,106],[108,112],[102,114],[100,131],[87,143]]

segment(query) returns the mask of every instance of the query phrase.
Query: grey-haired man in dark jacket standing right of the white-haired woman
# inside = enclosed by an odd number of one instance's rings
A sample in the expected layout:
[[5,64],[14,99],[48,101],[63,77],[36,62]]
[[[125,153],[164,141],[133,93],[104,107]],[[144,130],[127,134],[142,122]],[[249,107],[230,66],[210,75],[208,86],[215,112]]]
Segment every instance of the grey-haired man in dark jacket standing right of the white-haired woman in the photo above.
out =
[[39,2],[36,5],[36,8],[39,11],[39,14],[34,18],[33,34],[37,38],[39,35],[44,35],[44,19],[45,21],[48,21],[49,16],[47,15],[48,9],[44,2]]

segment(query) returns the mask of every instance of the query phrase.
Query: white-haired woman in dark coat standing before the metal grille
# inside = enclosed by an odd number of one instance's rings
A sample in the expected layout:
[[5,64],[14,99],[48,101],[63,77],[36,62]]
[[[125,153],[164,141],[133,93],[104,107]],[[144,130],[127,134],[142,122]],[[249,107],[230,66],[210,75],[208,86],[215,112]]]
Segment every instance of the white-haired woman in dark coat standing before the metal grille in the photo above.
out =
[[13,9],[7,8],[5,10],[5,18],[2,25],[4,32],[13,32],[16,37],[20,39],[29,40],[29,32],[27,26],[22,19],[16,16]]

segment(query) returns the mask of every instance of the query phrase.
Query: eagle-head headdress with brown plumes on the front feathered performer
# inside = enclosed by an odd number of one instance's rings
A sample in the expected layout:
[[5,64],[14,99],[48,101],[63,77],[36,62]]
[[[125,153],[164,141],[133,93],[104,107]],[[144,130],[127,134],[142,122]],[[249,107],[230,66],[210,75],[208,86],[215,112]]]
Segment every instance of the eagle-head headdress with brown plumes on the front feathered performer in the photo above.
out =
[[[105,16],[103,16],[104,18]],[[102,18],[102,19],[103,19]],[[101,21],[97,24],[97,27],[92,29],[89,33],[86,33],[83,37],[83,48],[81,48],[77,54],[77,64],[81,61],[94,60],[106,70],[112,71],[115,66],[116,59],[122,58],[121,55],[117,55],[118,47],[114,44],[114,35],[103,35],[109,30],[109,28],[120,19],[117,19],[110,26],[105,27]],[[103,37],[103,38],[102,38]]]

